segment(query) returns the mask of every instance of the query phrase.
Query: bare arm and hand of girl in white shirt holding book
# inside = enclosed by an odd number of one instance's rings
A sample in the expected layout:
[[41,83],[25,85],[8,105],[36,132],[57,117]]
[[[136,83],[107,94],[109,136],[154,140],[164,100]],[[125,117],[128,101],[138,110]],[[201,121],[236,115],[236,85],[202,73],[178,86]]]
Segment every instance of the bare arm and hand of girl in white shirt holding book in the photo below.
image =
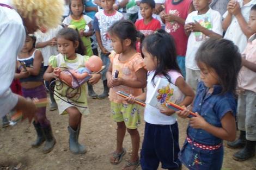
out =
[[[193,102],[193,99],[195,96],[193,89],[186,83],[186,81],[182,77],[179,77],[176,80],[175,85],[179,87],[180,91],[185,95],[184,100],[182,100],[182,102],[179,105],[180,106],[190,105]],[[175,113],[175,110],[166,108],[164,110],[160,110],[160,112],[164,115],[171,116],[172,114]]]

